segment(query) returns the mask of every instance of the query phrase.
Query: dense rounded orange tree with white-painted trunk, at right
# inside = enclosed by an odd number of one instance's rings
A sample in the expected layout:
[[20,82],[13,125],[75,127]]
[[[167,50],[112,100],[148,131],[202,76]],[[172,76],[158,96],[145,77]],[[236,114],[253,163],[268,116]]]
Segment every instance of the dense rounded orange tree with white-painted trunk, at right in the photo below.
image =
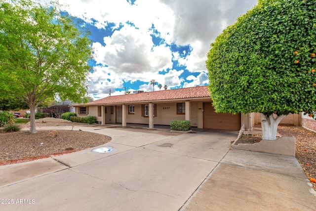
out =
[[263,139],[290,113],[316,110],[316,0],[258,0],[211,44],[217,112],[260,112]]

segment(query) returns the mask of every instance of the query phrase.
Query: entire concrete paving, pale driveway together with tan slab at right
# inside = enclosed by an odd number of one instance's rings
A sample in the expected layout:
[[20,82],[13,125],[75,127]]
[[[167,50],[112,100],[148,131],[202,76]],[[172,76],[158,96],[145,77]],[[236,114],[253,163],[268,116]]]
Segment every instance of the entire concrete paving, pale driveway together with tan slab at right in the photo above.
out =
[[316,210],[294,157],[230,150],[236,131],[76,128],[111,136],[113,151],[1,166],[0,210]]

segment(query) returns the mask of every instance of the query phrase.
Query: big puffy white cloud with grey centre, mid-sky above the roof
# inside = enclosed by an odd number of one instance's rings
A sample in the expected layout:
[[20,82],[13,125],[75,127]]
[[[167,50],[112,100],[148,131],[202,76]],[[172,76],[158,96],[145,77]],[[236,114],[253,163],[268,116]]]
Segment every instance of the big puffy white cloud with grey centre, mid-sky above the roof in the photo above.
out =
[[125,25],[115,31],[112,37],[104,38],[105,46],[93,43],[95,60],[116,73],[157,72],[172,67],[169,47],[153,47],[149,32],[141,32]]

